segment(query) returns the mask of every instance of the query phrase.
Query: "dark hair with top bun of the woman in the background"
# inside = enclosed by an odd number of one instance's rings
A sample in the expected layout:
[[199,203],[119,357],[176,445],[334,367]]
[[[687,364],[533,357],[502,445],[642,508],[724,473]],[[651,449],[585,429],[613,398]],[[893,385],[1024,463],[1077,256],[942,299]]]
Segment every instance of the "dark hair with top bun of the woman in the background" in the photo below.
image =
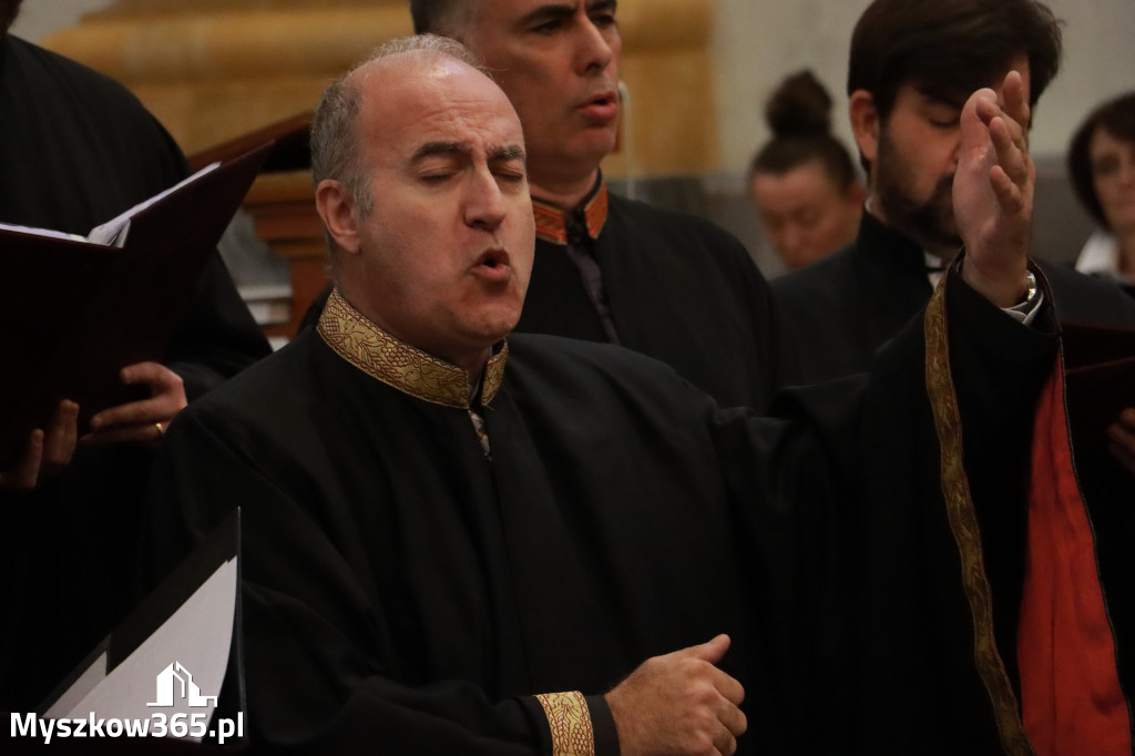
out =
[[856,180],[847,148],[831,134],[832,98],[810,70],[789,76],[765,102],[771,138],[749,165],[749,183],[758,174],[782,176],[812,160],[840,191]]

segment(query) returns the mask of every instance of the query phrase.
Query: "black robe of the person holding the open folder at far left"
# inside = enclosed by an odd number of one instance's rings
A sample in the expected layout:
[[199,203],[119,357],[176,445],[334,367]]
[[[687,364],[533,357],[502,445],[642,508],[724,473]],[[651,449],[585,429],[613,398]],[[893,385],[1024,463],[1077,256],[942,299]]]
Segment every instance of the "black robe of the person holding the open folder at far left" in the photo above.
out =
[[[187,175],[173,138],[125,87],[7,34],[0,134],[2,222],[85,235]],[[269,352],[213,255],[166,366],[192,401]],[[79,448],[66,473],[36,494],[0,492],[9,513],[5,603],[14,618],[0,690],[12,711],[36,706],[128,608],[123,586],[136,572],[137,506],[151,454],[142,446]],[[82,590],[74,591],[76,581]],[[74,591],[68,602],[59,599],[65,590]]]

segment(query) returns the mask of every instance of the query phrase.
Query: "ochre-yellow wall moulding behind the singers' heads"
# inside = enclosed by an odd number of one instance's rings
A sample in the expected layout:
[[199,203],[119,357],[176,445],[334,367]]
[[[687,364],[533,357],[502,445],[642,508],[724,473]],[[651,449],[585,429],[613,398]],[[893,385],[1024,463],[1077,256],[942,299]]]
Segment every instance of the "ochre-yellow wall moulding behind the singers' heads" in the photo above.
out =
[[[714,17],[714,0],[623,0],[631,99],[608,176],[720,166]],[[117,0],[42,41],[131,87],[193,154],[310,110],[335,76],[410,32],[406,0]]]

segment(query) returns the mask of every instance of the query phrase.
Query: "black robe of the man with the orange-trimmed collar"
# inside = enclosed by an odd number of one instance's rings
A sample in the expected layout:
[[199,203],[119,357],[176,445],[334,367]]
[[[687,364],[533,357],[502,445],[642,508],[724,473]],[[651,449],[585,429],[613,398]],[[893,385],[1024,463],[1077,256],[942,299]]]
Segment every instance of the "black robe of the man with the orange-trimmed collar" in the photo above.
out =
[[[599,264],[619,343],[671,366],[722,406],[766,408],[780,385],[775,324],[768,285],[745,246],[707,220],[608,195],[602,183],[597,191],[579,241]],[[596,200],[606,202],[603,217],[594,217]],[[611,341],[568,240],[548,222],[560,211],[533,203],[536,261],[516,331]]]

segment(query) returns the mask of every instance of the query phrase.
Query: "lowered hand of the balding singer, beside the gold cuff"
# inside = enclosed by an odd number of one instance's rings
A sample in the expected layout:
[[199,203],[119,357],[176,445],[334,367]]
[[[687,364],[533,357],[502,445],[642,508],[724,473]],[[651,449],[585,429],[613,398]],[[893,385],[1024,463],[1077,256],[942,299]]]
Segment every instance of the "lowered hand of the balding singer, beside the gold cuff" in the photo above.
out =
[[729,756],[748,728],[741,683],[715,665],[729,636],[655,656],[606,695],[623,756]]

